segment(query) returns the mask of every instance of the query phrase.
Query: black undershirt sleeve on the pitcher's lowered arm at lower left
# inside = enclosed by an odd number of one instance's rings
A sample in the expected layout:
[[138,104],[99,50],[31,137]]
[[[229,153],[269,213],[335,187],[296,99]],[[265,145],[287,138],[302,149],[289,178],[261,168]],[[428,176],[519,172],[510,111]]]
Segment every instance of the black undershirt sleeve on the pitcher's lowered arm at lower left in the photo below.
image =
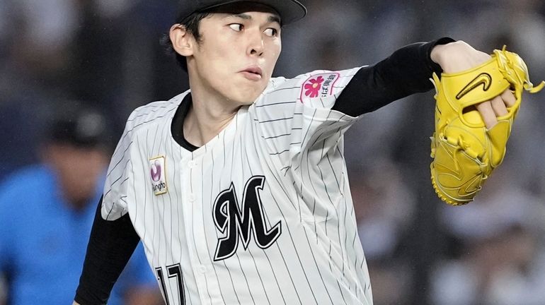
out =
[[101,205],[102,198],[96,209],[84,269],[74,298],[81,305],[106,304],[117,277],[140,240],[128,213],[117,220],[103,220]]

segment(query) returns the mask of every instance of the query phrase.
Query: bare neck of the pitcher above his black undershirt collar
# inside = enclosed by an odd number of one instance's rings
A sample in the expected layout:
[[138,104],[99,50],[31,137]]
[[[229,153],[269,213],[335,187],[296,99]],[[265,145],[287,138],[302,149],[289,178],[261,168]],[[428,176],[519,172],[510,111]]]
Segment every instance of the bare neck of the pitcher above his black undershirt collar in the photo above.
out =
[[191,97],[193,104],[183,121],[183,136],[198,147],[208,143],[229,125],[241,107],[200,90],[192,90]]

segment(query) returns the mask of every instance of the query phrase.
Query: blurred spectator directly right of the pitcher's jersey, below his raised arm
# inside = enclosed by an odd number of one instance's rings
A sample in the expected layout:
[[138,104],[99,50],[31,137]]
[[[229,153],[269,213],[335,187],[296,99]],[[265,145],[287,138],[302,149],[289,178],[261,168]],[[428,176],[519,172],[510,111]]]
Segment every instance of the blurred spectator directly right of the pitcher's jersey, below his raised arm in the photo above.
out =
[[398,249],[411,225],[415,196],[403,181],[400,167],[378,158],[351,176],[357,231],[375,305],[402,304],[411,288],[411,270]]

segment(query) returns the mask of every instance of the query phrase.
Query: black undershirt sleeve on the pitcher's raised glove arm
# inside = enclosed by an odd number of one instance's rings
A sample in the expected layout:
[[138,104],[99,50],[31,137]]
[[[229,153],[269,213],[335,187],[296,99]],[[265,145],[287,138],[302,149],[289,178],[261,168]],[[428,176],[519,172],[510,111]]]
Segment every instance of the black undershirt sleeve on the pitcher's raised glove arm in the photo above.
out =
[[444,37],[432,42],[417,42],[398,49],[374,66],[357,71],[332,109],[359,116],[386,106],[395,100],[433,88],[432,73],[440,75],[441,67],[430,58],[437,44],[454,42]]

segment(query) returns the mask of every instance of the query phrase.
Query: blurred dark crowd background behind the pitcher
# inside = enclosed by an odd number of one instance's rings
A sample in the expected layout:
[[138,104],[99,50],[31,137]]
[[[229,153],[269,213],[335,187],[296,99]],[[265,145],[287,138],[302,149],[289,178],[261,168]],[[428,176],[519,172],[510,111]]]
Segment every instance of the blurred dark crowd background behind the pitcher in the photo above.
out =
[[[283,30],[275,76],[374,64],[449,36],[488,53],[507,44],[534,83],[545,79],[543,0],[302,2],[309,16]],[[59,114],[100,112],[111,154],[132,109],[186,90],[187,76],[159,45],[175,15],[176,0],[0,0],[4,185],[48,162],[46,126]],[[545,94],[524,96],[503,166],[458,208],[430,183],[432,96],[366,114],[345,136],[374,304],[545,304]],[[9,299],[10,279],[4,270],[0,299]]]

